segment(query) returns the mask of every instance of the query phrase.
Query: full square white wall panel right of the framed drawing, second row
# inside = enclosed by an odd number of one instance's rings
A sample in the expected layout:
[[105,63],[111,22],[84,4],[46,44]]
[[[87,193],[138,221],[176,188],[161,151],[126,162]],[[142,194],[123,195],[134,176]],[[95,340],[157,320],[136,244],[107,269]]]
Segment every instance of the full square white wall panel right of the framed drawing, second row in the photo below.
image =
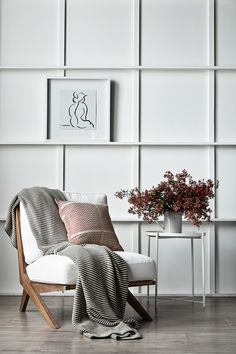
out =
[[208,140],[206,72],[144,71],[141,88],[143,141]]

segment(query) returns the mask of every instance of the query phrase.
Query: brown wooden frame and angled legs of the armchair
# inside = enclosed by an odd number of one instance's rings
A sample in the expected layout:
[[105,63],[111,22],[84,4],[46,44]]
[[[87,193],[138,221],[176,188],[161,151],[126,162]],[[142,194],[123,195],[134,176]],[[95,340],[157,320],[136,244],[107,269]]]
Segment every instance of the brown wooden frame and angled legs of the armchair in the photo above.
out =
[[[25,312],[29,298],[34,302],[35,306],[48,322],[49,326],[55,329],[60,328],[59,323],[55,320],[54,316],[48,309],[47,305],[43,301],[40,293],[45,292],[55,292],[55,291],[64,291],[75,289],[74,285],[65,285],[65,284],[47,284],[47,283],[38,283],[31,281],[28,277],[26,271],[26,262],[23,250],[23,243],[21,238],[21,226],[20,226],[20,209],[16,208],[16,237],[17,237],[17,249],[18,249],[18,265],[19,265],[19,278],[20,283],[23,287],[23,293],[20,303],[20,311]],[[154,280],[144,280],[144,281],[131,281],[129,282],[129,287],[133,286],[143,286],[143,285],[154,285]],[[152,321],[152,318],[135,298],[135,296],[128,291],[127,301],[134,308],[134,310],[146,321]]]

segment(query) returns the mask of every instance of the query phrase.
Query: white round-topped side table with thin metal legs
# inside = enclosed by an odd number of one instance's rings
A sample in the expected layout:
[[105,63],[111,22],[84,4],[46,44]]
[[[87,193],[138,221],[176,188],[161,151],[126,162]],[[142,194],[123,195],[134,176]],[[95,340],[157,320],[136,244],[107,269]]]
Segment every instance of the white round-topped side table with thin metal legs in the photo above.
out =
[[[157,267],[157,278],[158,278],[158,249],[159,249],[159,239],[190,239],[191,240],[191,279],[192,279],[192,300],[191,302],[199,302],[194,300],[194,252],[193,252],[193,240],[201,240],[202,243],[202,305],[206,306],[205,301],[205,232],[197,233],[194,231],[183,232],[183,233],[164,233],[160,231],[146,231],[146,235],[148,236],[148,256],[150,256],[150,244],[151,238],[154,237],[156,240],[156,267]],[[149,298],[149,288],[148,294]],[[157,290],[156,290],[156,300],[157,300]]]

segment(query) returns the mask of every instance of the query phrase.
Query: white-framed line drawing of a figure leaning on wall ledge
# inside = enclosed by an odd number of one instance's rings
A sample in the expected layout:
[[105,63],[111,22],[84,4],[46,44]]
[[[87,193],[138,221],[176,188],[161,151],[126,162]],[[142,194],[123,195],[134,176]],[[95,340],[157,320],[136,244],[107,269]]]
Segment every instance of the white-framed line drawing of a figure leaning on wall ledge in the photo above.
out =
[[110,80],[47,78],[47,140],[110,141]]

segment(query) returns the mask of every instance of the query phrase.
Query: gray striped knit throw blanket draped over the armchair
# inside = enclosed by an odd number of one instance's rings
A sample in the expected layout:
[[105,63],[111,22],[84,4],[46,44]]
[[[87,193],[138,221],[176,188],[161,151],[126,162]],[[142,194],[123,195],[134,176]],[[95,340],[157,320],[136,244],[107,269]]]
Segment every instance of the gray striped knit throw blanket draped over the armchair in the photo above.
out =
[[55,199],[64,200],[59,190],[43,187],[23,189],[12,200],[5,230],[17,247],[15,208],[22,202],[38,247],[44,254],[71,258],[78,269],[72,323],[88,338],[137,339],[135,321],[124,321],[128,292],[125,261],[105,246],[74,245],[67,241]]

